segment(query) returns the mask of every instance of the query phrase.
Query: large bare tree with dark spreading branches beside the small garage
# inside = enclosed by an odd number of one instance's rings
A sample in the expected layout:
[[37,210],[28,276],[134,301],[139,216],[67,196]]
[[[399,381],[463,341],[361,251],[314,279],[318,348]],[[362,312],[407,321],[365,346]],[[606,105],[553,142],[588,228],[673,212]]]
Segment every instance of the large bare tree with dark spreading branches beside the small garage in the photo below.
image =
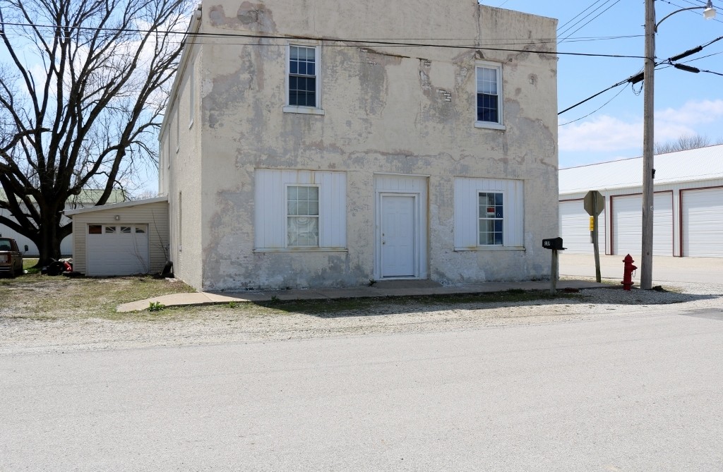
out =
[[82,189],[127,189],[154,142],[178,66],[189,0],[0,0],[0,223],[39,264],[72,231]]

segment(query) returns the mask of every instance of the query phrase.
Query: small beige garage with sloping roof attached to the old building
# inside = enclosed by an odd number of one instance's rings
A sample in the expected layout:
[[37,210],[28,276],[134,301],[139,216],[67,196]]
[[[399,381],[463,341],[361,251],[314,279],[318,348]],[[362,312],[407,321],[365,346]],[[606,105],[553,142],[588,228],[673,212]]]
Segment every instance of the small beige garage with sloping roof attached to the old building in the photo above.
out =
[[166,197],[67,211],[73,269],[89,276],[158,273],[168,259]]

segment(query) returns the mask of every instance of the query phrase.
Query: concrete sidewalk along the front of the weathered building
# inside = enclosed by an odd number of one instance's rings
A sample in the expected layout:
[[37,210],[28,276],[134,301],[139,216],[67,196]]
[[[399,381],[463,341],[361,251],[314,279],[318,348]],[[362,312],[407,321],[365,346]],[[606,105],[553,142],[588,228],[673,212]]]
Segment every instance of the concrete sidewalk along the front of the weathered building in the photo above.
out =
[[[601,288],[609,287],[600,283],[586,280],[560,280],[557,282],[557,289],[565,288]],[[330,299],[356,299],[366,297],[389,297],[389,296],[425,296],[425,295],[451,295],[461,293],[490,293],[502,292],[511,289],[521,290],[549,290],[548,281],[532,282],[487,282],[469,283],[459,286],[442,286],[432,280],[383,280],[374,283],[372,286],[351,287],[351,288],[318,288],[300,290],[268,290],[268,291],[244,291],[238,293],[223,292],[197,292],[197,293],[175,293],[163,295],[151,299],[132,301],[119,305],[116,311],[119,313],[140,312],[148,309],[152,302],[158,302],[163,306],[202,306],[228,304],[230,302],[254,302],[278,300],[330,300]]]

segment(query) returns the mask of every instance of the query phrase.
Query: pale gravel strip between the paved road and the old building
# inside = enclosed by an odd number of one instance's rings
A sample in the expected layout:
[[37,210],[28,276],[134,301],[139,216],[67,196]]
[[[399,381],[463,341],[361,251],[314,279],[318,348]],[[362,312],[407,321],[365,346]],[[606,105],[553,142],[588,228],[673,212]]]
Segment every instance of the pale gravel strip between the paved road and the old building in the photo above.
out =
[[523,304],[410,305],[381,301],[364,311],[254,314],[242,304],[119,320],[25,316],[0,310],[0,354],[263,342],[301,338],[475,330],[490,326],[582,322],[696,309],[723,311],[723,285],[669,284],[675,291],[583,290],[575,299]]

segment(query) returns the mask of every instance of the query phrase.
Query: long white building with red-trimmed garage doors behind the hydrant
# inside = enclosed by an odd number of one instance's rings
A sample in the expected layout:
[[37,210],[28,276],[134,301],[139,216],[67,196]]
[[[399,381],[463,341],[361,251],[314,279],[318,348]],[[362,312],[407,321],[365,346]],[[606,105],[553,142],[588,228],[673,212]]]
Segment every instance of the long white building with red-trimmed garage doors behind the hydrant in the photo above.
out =
[[[583,197],[605,197],[599,246],[605,254],[641,254],[642,158],[560,169],[560,236],[567,252],[591,253]],[[723,145],[654,158],[653,254],[723,257]]]

